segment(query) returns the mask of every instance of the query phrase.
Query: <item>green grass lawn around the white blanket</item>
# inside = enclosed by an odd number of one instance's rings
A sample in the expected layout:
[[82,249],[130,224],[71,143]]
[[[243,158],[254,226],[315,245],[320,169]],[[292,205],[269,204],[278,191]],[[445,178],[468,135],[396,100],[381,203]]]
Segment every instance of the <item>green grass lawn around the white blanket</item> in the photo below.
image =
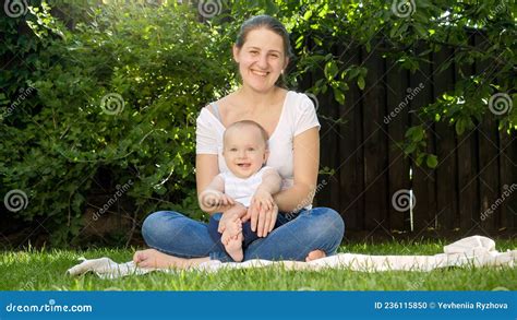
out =
[[[443,242],[350,244],[340,252],[370,254],[435,254]],[[517,240],[498,240],[497,250],[517,248]],[[448,268],[432,272],[363,273],[348,270],[287,271],[281,266],[178,272],[101,280],[94,274],[68,276],[79,257],[131,260],[133,249],[24,250],[0,252],[2,291],[517,291],[517,268]]]

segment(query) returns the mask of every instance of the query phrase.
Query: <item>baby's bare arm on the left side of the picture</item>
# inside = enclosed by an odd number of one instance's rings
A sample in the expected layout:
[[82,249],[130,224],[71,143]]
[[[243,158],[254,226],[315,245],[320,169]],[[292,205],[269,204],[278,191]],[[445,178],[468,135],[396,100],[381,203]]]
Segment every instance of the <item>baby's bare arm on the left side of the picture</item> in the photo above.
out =
[[212,182],[200,193],[200,208],[207,213],[225,212],[235,204],[233,199],[225,192],[225,179],[221,176],[215,176]]

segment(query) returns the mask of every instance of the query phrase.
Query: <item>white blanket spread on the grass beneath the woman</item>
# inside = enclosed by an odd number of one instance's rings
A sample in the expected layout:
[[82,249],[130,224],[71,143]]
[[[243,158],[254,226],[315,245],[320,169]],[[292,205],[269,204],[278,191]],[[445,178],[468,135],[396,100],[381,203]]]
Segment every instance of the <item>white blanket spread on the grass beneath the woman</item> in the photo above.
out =
[[[145,274],[152,271],[175,273],[173,269],[143,269],[133,261],[116,263],[109,258],[85,259],[83,262],[70,268],[67,273],[80,275],[94,272],[103,278],[117,278],[131,274]],[[347,269],[361,272],[380,272],[389,270],[401,271],[431,271],[445,266],[508,266],[517,265],[517,250],[498,252],[495,250],[494,240],[472,236],[460,239],[444,247],[444,252],[434,256],[371,256],[357,253],[339,253],[332,257],[314,260],[311,262],[299,261],[268,261],[249,260],[245,262],[221,263],[217,260],[204,262],[190,270],[204,272],[217,272],[221,269],[263,268],[267,265],[282,265],[288,270],[321,270],[321,269]]]

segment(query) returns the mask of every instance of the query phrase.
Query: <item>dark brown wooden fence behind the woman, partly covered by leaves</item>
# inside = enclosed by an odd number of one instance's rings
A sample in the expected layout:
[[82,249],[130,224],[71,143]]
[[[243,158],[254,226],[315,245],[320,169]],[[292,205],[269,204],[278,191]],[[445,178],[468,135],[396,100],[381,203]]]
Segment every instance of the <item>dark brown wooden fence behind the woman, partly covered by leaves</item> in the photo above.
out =
[[[472,36],[471,40],[479,43],[480,38]],[[317,96],[321,167],[335,169],[333,175],[320,177],[325,187],[317,189],[317,205],[338,210],[349,230],[459,230],[494,235],[515,229],[517,134],[500,132],[496,117],[490,110],[474,130],[461,135],[447,123],[422,122],[413,111],[454,87],[459,68],[452,63],[445,71],[437,71],[454,50],[445,48],[430,54],[431,62],[410,73],[384,59],[377,49],[336,50],[346,64],[368,68],[366,85],[363,91],[350,86],[345,105],[336,103],[329,94]],[[491,68],[476,63],[461,67],[461,72],[490,74]],[[312,86],[312,79],[321,73],[314,71],[316,76],[308,76],[302,86]],[[402,102],[408,105],[401,107]],[[336,125],[325,117],[346,123]],[[425,164],[418,167],[396,144],[410,126],[420,123],[428,128],[428,152],[438,156],[435,169],[426,168]],[[399,203],[406,210],[396,210],[393,198],[399,190],[411,190],[416,200],[412,210],[408,203]]]

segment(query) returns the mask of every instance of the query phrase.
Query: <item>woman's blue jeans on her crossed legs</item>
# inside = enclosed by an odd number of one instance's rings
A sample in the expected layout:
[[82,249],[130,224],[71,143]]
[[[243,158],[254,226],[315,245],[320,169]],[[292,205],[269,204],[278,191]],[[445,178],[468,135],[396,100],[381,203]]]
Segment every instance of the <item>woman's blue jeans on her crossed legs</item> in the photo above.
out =
[[[303,210],[289,220],[278,213],[275,229],[265,238],[254,240],[244,250],[250,259],[305,261],[313,250],[327,256],[336,253],[345,233],[341,216],[328,208]],[[212,239],[208,225],[173,211],[152,213],[144,221],[142,235],[151,248],[181,258],[209,257],[221,262],[233,261]]]

